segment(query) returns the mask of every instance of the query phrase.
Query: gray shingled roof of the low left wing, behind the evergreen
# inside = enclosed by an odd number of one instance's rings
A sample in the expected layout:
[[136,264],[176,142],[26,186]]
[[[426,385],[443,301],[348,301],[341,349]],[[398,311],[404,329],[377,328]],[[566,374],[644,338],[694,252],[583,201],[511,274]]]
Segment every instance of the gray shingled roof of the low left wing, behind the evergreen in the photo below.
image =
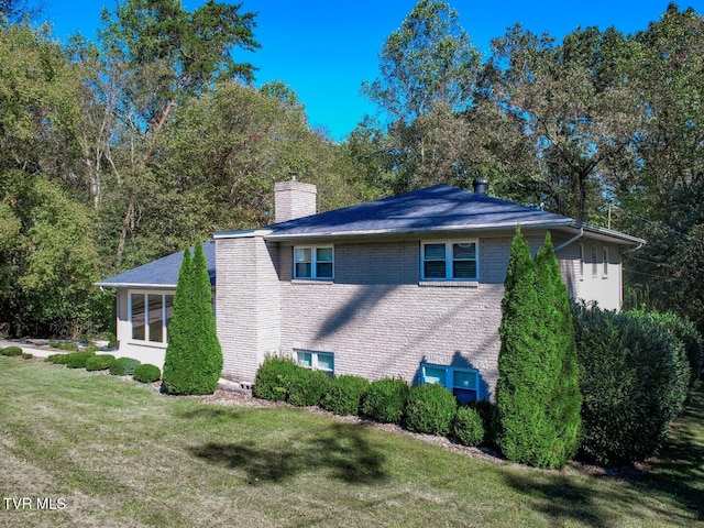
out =
[[[202,244],[202,252],[208,264],[208,275],[210,284],[216,285],[216,243],[209,240]],[[176,287],[178,282],[178,270],[184,260],[184,252],[173,253],[157,261],[150,262],[143,266],[129,270],[124,273],[106,278],[96,283],[98,286],[109,287]]]

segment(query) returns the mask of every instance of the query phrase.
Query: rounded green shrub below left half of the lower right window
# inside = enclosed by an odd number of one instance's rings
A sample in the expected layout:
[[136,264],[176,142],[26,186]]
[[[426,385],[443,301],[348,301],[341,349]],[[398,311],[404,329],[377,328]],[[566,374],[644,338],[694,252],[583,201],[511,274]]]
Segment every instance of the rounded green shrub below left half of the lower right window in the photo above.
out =
[[408,391],[404,427],[409,431],[447,435],[458,404],[442,385],[417,385]]

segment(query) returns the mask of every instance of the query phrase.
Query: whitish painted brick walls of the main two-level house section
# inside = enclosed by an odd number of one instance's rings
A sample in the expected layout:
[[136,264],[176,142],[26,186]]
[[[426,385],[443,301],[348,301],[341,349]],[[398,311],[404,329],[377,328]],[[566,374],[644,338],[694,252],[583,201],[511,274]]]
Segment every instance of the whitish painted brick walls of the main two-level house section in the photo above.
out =
[[[544,232],[527,239],[535,254]],[[252,382],[265,353],[304,349],[332,352],[336,373],[370,380],[417,382],[424,361],[477,369],[481,396],[492,397],[510,240],[481,238],[480,282],[446,287],[419,284],[420,240],[336,243],[334,280],[315,282],[292,279],[290,243],[218,239],[217,321],[224,374]],[[559,256],[570,292],[590,292],[600,305],[610,306],[603,290],[576,276],[579,243]],[[598,284],[619,290],[617,246],[609,249],[609,257],[608,278]]]

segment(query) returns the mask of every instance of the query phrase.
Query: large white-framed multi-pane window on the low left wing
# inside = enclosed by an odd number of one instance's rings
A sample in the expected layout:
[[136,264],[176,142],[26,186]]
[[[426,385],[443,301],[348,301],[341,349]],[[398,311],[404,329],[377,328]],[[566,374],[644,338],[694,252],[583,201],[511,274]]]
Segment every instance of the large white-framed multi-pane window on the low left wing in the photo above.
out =
[[133,340],[168,343],[174,293],[131,290],[128,305]]

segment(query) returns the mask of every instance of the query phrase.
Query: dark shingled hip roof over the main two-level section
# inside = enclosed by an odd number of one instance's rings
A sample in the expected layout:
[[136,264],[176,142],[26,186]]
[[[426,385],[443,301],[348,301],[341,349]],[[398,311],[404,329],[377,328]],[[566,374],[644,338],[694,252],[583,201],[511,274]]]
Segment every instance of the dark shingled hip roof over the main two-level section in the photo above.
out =
[[[521,226],[570,227],[574,220],[449,185],[268,226],[267,239],[298,235],[404,233]],[[223,233],[224,234],[224,233]]]

